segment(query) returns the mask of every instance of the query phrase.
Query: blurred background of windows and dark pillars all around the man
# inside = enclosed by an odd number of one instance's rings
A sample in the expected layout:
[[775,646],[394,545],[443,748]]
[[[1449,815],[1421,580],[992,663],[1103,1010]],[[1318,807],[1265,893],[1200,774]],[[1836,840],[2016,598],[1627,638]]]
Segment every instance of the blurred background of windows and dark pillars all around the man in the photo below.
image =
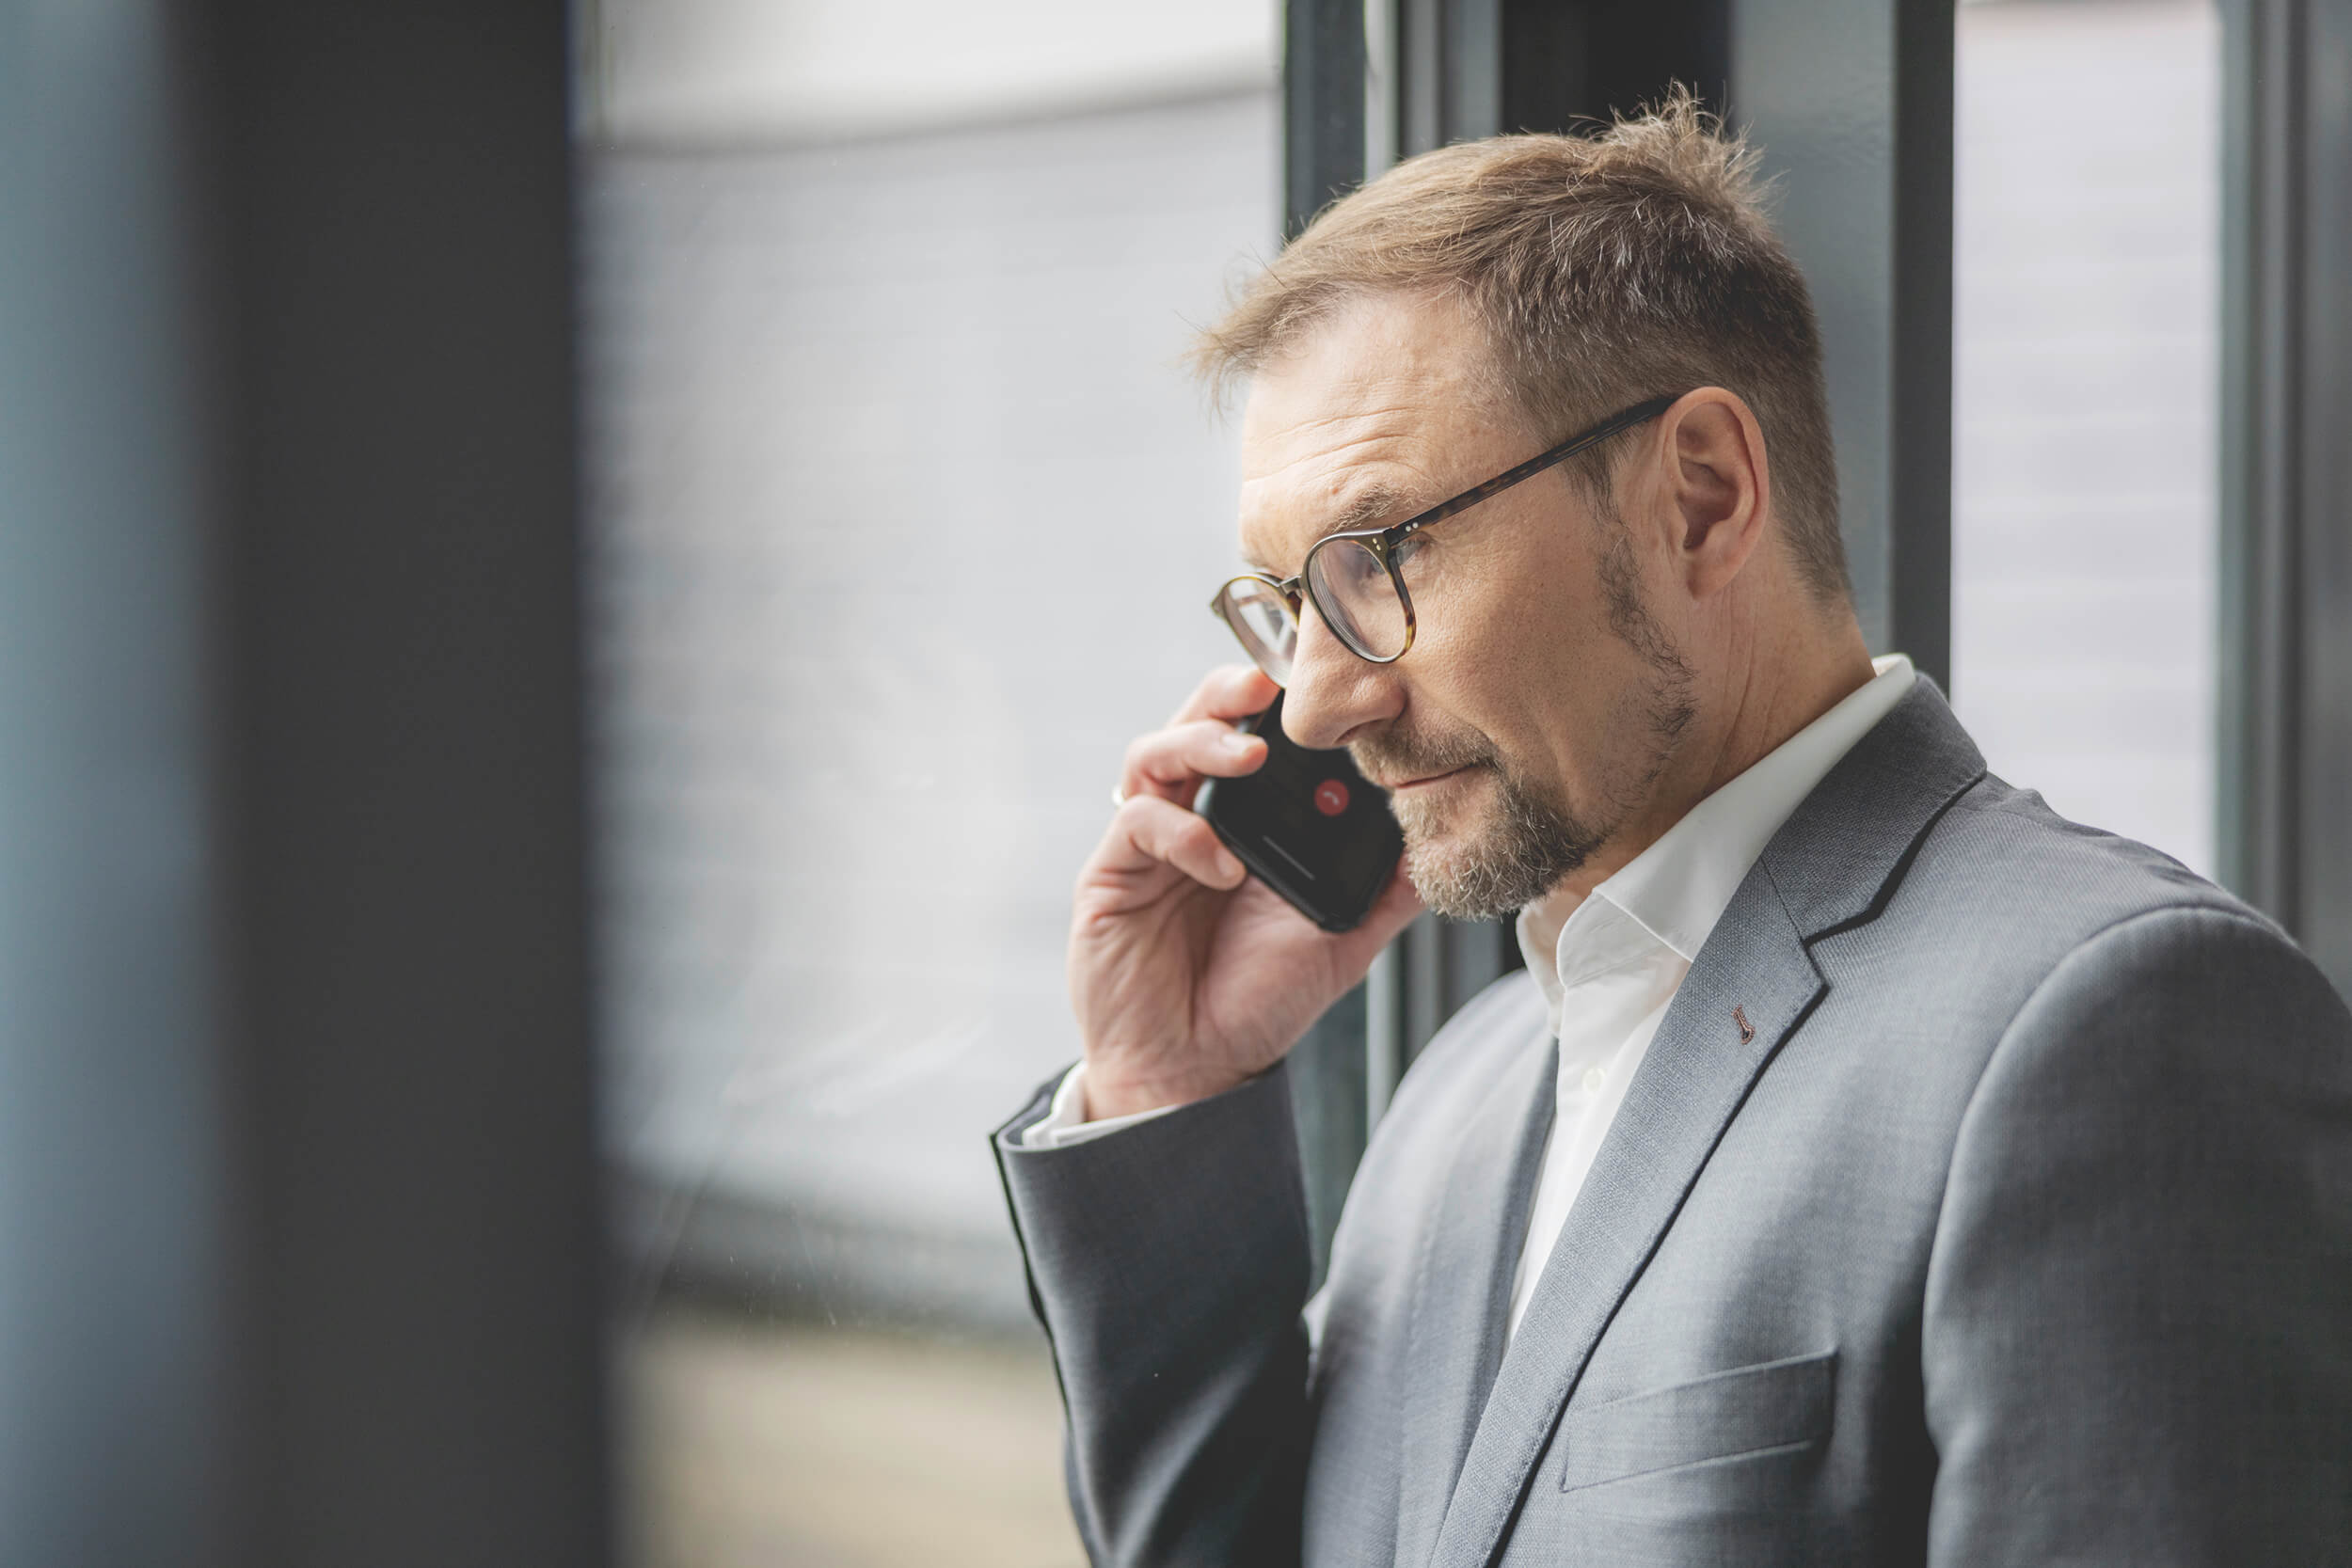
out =
[[[985,1138],[1230,658],[1178,357],[1668,80],[1875,649],[2352,987],[2352,0],[0,0],[0,1561],[1082,1563]],[[1301,1046],[1319,1237],[1512,964]]]

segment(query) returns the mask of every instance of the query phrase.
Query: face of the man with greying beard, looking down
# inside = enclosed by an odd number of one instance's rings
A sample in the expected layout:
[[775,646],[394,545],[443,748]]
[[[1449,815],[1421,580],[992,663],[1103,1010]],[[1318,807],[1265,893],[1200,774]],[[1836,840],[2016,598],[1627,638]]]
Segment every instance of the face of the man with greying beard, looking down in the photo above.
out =
[[[1359,510],[1399,522],[1526,461],[1451,301],[1364,299],[1251,381],[1242,555],[1291,576]],[[1691,672],[1649,614],[1653,531],[1550,470],[1435,524],[1404,567],[1418,632],[1392,665],[1305,611],[1284,729],[1388,785],[1406,870],[1439,914],[1534,903],[1637,816],[1691,717]]]

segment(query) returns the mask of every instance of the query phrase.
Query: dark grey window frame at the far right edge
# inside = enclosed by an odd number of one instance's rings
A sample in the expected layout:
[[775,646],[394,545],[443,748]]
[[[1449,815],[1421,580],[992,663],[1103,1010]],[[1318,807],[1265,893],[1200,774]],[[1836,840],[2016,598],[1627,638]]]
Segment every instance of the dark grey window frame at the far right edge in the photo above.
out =
[[2223,879],[2352,994],[2352,0],[2223,21]]

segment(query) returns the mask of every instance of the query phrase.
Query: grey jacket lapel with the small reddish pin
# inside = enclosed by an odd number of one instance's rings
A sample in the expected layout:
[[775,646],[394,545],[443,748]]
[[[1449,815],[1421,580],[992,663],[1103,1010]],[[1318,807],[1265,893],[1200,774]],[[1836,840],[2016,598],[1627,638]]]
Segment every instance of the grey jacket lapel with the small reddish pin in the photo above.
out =
[[1399,1561],[1484,1568],[1494,1559],[1609,1319],[1757,1074],[1828,990],[1809,940],[1875,914],[1910,849],[1983,771],[1943,693],[1922,677],[1773,835],[1675,992],[1559,1229],[1461,1462],[1435,1554]]

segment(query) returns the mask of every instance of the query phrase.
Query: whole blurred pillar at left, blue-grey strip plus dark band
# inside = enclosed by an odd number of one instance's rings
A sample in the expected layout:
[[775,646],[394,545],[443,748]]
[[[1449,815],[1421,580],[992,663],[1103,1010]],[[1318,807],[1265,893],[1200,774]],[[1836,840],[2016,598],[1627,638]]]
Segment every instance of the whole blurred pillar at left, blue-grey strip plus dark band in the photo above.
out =
[[0,0],[0,1561],[600,1563],[560,5]]

